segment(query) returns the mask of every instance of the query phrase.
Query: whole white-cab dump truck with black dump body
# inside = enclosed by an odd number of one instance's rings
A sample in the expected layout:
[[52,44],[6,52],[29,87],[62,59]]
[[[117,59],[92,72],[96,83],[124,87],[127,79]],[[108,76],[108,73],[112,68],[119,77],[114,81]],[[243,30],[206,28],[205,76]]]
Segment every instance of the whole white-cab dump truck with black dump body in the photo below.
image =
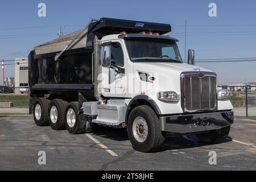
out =
[[36,46],[28,56],[30,111],[38,126],[92,133],[125,128],[135,150],[158,150],[168,136],[219,143],[234,122],[217,75],[180,56],[171,25],[92,19],[82,30]]

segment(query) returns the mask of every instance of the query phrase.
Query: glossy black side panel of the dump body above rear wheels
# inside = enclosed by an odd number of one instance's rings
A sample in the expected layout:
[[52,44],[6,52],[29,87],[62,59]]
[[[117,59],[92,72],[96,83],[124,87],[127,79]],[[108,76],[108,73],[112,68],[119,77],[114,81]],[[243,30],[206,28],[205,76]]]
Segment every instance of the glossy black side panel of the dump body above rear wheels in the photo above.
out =
[[32,51],[29,62],[30,89],[34,93],[36,90],[93,90],[91,49],[69,52],[59,61],[49,54],[33,55]]

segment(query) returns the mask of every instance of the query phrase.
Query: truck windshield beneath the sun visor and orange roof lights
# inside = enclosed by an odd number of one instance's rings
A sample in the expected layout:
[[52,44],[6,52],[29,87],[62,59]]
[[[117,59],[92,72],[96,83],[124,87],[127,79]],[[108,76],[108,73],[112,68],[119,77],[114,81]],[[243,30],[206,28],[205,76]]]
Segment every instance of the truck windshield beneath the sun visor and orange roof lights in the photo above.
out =
[[183,63],[174,40],[128,39],[126,46],[134,62]]

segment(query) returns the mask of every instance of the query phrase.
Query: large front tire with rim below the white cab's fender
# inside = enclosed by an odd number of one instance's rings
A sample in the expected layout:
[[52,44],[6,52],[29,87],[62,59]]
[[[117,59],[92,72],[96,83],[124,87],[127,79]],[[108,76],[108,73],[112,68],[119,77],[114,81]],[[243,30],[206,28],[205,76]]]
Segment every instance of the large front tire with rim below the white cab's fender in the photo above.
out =
[[154,152],[162,147],[166,140],[160,129],[158,116],[147,105],[135,107],[131,111],[127,131],[134,149],[141,152]]

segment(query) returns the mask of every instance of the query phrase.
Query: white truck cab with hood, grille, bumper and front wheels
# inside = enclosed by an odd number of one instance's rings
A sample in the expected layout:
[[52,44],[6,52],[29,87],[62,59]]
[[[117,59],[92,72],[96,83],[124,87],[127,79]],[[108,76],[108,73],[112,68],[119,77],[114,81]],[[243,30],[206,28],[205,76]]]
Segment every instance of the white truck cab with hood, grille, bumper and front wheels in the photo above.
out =
[[[217,91],[216,73],[183,63],[177,41],[122,32],[97,42],[101,45],[96,52],[101,58],[97,92],[106,100],[95,107],[98,114],[92,122],[127,127],[133,146],[144,152],[163,144],[164,133],[199,133],[204,142],[227,137],[233,123],[229,91]],[[189,63],[195,63],[193,54],[189,50]],[[159,138],[150,140],[150,135]]]

